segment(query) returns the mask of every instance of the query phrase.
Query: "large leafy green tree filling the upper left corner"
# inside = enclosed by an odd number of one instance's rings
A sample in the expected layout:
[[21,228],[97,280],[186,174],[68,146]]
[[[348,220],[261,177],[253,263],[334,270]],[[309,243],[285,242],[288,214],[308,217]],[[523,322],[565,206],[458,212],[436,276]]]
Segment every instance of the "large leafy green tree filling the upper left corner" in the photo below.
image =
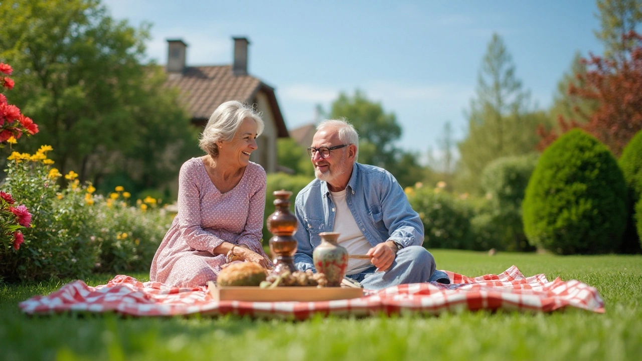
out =
[[175,176],[195,138],[164,72],[144,64],[148,24],[115,21],[97,0],[0,3],[0,58],[24,86],[15,103],[38,119],[61,172],[140,188]]

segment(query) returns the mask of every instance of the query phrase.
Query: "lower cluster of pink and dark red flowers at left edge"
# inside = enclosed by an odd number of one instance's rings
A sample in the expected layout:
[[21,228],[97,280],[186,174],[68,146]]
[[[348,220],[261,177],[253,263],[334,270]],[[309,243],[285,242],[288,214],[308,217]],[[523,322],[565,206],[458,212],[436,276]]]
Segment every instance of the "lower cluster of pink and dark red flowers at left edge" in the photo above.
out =
[[0,243],[4,252],[13,247],[16,251],[24,242],[21,229],[31,227],[31,213],[24,204],[13,207],[15,200],[9,193],[0,191]]

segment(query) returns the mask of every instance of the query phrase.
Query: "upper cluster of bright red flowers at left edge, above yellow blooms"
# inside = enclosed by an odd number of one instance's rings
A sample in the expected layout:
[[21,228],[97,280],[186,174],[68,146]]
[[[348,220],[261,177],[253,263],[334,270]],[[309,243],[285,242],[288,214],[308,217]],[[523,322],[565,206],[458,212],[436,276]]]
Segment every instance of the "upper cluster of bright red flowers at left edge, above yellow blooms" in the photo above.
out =
[[[8,64],[0,63],[0,87],[13,89],[15,83],[8,76],[13,69]],[[38,132],[38,125],[33,120],[21,114],[20,109],[9,104],[6,96],[0,93],[0,148],[5,144],[15,144],[22,134],[33,136]]]

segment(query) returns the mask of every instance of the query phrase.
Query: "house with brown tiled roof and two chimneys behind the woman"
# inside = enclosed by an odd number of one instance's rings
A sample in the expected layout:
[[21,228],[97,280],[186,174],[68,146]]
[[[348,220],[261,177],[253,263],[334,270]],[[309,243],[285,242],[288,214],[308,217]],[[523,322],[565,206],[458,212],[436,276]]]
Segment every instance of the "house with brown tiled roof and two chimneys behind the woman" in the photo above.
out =
[[180,98],[196,127],[205,127],[214,109],[228,100],[254,105],[265,121],[265,130],[257,138],[259,148],[250,160],[266,172],[277,172],[277,138],[288,137],[274,88],[248,73],[248,45],[245,37],[234,37],[232,64],[187,66],[187,44],[180,39],[167,40],[167,85],[180,91]]

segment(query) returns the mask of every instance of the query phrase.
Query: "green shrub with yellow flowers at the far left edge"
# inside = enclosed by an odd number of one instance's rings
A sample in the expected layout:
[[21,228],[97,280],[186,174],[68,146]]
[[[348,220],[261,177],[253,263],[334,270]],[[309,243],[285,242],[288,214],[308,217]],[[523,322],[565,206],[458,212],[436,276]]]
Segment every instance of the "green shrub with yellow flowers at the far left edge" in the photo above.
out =
[[48,161],[46,152],[14,153],[7,163],[3,189],[33,217],[20,249],[0,251],[0,274],[6,281],[84,277],[98,260],[98,243],[90,238],[96,227],[93,209],[86,206],[73,173],[65,176],[68,188],[60,189],[60,173],[43,163]]

